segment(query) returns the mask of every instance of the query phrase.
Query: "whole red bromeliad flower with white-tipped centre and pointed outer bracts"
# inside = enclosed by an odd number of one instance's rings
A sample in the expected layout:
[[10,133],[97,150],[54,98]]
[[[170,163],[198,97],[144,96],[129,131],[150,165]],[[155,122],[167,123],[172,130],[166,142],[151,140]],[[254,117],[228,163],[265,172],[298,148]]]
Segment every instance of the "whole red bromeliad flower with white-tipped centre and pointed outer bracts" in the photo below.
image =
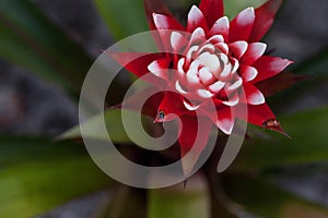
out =
[[129,63],[125,60],[139,53],[110,56],[137,76],[151,73],[159,81],[154,85],[165,84],[175,90],[153,97],[148,113],[155,116],[156,122],[179,117],[181,156],[195,143],[198,119],[202,120],[202,140],[197,144],[195,161],[207,145],[211,128],[215,125],[230,135],[236,118],[285,134],[263,93],[277,89],[267,81],[292,62],[265,55],[267,45],[258,43],[273,23],[282,0],[268,0],[256,10],[247,8],[231,22],[223,15],[222,0],[201,0],[199,8],[194,5],[189,11],[186,26],[161,1],[144,3],[150,28],[157,31],[154,38],[159,49],[167,52],[145,53]]

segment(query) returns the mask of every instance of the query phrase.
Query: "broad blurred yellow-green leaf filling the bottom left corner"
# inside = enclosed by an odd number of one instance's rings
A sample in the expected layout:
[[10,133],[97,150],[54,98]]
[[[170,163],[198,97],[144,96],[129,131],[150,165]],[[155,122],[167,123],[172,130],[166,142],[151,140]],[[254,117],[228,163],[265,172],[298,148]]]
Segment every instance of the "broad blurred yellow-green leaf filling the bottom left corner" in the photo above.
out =
[[0,217],[34,217],[113,184],[83,144],[1,137],[0,150]]

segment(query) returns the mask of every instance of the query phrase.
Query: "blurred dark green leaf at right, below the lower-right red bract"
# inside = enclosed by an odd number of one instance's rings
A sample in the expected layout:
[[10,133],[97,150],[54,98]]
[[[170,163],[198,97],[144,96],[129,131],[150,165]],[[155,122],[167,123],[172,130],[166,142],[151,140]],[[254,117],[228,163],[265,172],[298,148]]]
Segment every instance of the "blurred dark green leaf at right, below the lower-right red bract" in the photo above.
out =
[[328,108],[281,118],[292,140],[279,134],[246,140],[233,169],[253,170],[278,166],[327,161]]

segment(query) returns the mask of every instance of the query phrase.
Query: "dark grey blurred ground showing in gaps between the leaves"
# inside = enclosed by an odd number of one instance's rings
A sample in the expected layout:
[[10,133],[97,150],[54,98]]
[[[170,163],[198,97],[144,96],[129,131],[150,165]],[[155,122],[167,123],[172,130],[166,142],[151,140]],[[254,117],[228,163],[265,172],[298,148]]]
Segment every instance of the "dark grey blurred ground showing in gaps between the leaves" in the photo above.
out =
[[[113,40],[91,0],[34,0],[50,19],[94,57]],[[288,0],[271,32],[265,38],[273,53],[295,63],[328,46],[328,1]],[[63,55],[65,56],[65,55]],[[68,57],[69,58],[69,57]],[[278,108],[295,112],[328,102],[328,84],[304,94],[294,107]],[[0,59],[0,131],[2,134],[56,136],[78,123],[78,109],[65,92],[39,80],[23,69]],[[307,171],[308,177],[301,172]],[[302,173],[304,174],[304,173]],[[316,167],[286,169],[277,181],[288,190],[328,206],[328,175]],[[99,199],[110,194],[99,193],[78,201],[43,217],[89,217]],[[102,202],[101,201],[101,202]],[[83,216],[84,215],[84,216]]]

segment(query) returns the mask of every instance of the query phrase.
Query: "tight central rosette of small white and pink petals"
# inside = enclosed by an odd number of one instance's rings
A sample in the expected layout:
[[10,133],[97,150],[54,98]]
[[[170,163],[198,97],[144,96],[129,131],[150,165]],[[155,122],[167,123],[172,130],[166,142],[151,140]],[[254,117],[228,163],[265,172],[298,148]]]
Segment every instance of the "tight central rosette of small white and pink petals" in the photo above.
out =
[[191,36],[185,55],[177,63],[178,77],[175,84],[177,92],[198,102],[196,105],[212,97],[218,97],[230,106],[236,105],[234,96],[243,80],[236,73],[239,63],[229,57],[229,47],[223,37],[219,35],[207,40],[199,38],[194,40]]

